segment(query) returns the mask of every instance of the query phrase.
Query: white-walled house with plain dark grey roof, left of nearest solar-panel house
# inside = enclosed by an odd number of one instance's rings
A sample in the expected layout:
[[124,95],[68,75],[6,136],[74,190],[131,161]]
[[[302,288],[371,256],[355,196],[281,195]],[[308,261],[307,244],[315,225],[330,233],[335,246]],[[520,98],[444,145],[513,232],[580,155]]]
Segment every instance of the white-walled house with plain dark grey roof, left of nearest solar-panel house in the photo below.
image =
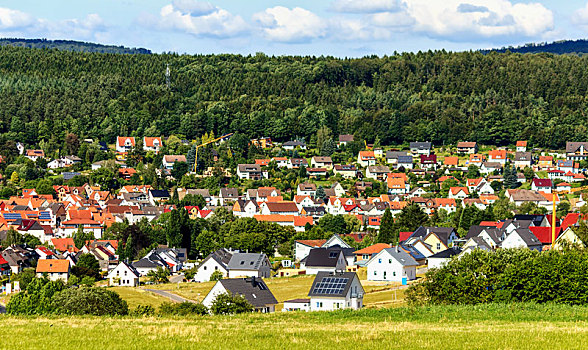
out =
[[242,296],[256,312],[275,312],[278,304],[263,279],[256,277],[229,278],[217,281],[202,300],[202,305],[210,308],[220,294]]

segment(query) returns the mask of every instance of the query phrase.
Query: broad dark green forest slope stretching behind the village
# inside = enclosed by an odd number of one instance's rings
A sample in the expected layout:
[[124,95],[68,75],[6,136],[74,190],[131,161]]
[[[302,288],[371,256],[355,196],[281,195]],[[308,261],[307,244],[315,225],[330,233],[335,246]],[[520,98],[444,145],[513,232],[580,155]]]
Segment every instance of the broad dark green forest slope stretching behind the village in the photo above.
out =
[[[165,70],[171,69],[171,88]],[[382,145],[585,141],[588,57],[406,53],[335,59],[105,55],[0,48],[0,148],[61,148],[66,133],[214,131],[312,142],[326,126]]]

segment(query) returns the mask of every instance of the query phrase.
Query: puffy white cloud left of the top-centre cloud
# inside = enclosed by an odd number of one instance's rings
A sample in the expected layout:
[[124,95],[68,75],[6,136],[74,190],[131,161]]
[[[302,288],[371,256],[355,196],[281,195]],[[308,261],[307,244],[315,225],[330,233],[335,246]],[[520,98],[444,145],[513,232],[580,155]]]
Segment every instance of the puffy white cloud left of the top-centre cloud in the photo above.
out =
[[225,9],[193,0],[173,1],[161,9],[157,25],[201,37],[229,38],[246,32],[248,24]]

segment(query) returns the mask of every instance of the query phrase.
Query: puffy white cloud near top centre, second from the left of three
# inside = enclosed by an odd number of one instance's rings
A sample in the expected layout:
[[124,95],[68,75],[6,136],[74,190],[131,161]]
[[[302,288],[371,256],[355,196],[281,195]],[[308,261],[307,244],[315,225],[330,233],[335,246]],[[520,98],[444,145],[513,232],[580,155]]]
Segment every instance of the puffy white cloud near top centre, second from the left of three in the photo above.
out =
[[316,14],[295,7],[268,8],[253,15],[264,37],[270,41],[300,43],[327,35],[328,23]]

